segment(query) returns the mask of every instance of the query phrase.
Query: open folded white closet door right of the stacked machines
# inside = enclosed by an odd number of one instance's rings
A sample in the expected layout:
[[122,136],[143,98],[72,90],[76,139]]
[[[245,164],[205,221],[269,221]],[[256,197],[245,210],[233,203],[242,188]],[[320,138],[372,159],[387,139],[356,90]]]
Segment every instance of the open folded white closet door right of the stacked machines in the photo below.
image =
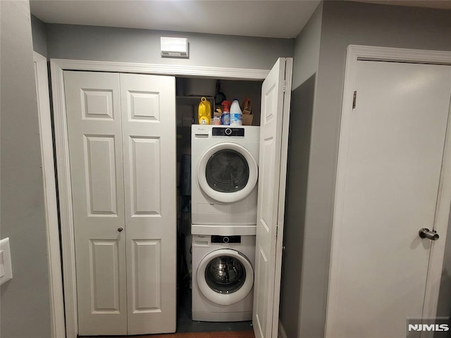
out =
[[254,313],[257,338],[276,338],[282,263],[292,58],[279,58],[261,87]]

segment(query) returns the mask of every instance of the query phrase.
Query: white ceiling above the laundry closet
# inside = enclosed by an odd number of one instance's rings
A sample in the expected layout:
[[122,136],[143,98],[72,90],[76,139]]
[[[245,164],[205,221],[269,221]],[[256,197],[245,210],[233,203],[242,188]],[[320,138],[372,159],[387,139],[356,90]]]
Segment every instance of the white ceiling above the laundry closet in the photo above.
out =
[[[0,0],[1,1],[1,0]],[[451,1],[355,0],[451,8]],[[319,0],[30,0],[44,23],[251,37],[297,37]]]

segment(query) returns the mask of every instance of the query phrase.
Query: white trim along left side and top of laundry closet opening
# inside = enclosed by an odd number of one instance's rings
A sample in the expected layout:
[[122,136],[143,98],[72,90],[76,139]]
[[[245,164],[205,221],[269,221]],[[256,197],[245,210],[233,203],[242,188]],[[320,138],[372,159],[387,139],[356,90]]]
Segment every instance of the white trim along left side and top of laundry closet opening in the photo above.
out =
[[[183,75],[233,80],[264,80],[266,69],[218,68],[188,65],[159,65],[110,61],[83,61],[50,59],[51,92],[54,107],[55,154],[58,174],[58,201],[61,222],[61,252],[63,265],[64,310],[66,313],[66,338],[78,334],[77,283],[75,275],[75,243],[73,228],[72,188],[70,184],[69,144],[64,96],[64,70],[85,70],[111,73],[136,73],[152,75]],[[48,148],[45,144],[43,148]],[[48,150],[48,149],[47,149]],[[53,151],[53,149],[51,149]],[[52,239],[53,243],[59,240]],[[59,254],[59,252],[58,252]],[[51,252],[51,259],[56,259]]]

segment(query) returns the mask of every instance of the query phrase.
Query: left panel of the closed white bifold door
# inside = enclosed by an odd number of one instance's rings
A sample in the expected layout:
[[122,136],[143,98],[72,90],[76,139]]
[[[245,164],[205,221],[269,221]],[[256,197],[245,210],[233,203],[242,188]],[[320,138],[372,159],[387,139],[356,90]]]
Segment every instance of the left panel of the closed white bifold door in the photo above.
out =
[[64,72],[78,333],[127,334],[119,75]]

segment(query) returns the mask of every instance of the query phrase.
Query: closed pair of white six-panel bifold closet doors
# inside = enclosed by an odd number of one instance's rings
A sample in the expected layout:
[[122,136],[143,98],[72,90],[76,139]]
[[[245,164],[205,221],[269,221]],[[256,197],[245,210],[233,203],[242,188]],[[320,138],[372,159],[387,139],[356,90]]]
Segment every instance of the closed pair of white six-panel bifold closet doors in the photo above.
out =
[[80,335],[175,332],[175,79],[64,72]]

